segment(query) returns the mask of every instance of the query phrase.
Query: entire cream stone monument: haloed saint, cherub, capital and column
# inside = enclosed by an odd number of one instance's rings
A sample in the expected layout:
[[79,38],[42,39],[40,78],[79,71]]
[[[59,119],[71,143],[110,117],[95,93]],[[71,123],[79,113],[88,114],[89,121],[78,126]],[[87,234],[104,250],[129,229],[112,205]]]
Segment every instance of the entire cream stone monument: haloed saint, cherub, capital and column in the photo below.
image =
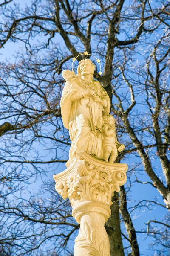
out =
[[69,198],[72,215],[80,224],[74,256],[111,256],[104,224],[111,215],[111,197],[126,182],[127,164],[111,163],[125,146],[117,141],[115,119],[109,115],[111,101],[94,81],[94,70],[91,60],[85,59],[79,62],[77,75],[62,72],[66,82],[61,113],[72,143],[67,169],[53,177],[57,192]]

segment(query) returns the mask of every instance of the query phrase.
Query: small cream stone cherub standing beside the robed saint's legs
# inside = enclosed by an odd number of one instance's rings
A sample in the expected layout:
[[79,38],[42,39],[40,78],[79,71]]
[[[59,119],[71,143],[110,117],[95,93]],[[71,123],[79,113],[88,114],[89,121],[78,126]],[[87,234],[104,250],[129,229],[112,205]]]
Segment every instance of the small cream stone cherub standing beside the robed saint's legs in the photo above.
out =
[[[103,159],[106,162],[114,163],[118,156],[118,151],[124,150],[125,145],[119,143],[116,137],[115,119],[112,115],[103,116],[103,127],[102,127],[102,148],[103,148]],[[109,157],[110,156],[110,157]]]

